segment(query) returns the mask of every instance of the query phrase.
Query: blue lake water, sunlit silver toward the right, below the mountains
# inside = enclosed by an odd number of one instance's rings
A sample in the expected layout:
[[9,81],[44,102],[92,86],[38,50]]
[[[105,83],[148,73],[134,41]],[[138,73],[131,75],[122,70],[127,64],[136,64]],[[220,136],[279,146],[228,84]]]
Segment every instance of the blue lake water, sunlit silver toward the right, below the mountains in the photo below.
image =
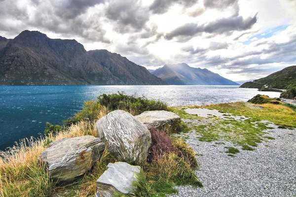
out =
[[[0,150],[19,139],[39,137],[46,122],[60,124],[81,110],[83,102],[117,91],[160,99],[170,106],[247,101],[259,93],[257,89],[238,86],[0,86]],[[270,97],[280,95],[263,93]]]

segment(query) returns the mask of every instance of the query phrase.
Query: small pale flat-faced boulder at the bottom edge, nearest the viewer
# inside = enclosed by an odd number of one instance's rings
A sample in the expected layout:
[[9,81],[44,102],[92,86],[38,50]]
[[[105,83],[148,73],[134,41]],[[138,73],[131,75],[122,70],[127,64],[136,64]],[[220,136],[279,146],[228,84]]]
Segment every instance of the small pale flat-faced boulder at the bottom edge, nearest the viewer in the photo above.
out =
[[108,164],[107,170],[97,180],[97,194],[95,197],[113,197],[116,193],[133,194],[137,173],[141,167],[131,166],[124,162]]

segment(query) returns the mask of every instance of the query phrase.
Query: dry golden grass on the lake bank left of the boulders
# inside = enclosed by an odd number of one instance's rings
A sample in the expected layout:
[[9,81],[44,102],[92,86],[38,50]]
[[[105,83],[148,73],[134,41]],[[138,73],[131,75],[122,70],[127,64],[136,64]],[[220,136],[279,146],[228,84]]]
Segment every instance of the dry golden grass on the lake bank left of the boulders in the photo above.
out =
[[[98,119],[107,113],[108,110],[103,108]],[[86,135],[98,137],[95,122],[78,122],[56,136],[50,134],[46,138],[24,139],[9,151],[3,152],[0,157],[0,196],[28,197],[30,196],[30,190],[32,193],[32,187],[38,185],[48,185],[50,187],[52,183],[48,179],[45,168],[38,161],[39,155],[51,141]],[[32,185],[32,183],[35,183],[35,185]],[[39,190],[38,192],[42,192],[41,190],[45,189],[40,186]]]

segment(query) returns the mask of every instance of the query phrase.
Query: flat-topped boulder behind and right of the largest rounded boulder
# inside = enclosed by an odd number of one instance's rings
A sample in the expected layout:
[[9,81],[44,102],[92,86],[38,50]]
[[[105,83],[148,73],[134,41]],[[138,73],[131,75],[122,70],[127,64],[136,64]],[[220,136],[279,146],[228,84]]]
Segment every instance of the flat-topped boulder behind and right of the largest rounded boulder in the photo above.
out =
[[166,132],[175,132],[180,130],[181,118],[176,113],[168,111],[147,111],[136,115],[148,129],[164,129]]

